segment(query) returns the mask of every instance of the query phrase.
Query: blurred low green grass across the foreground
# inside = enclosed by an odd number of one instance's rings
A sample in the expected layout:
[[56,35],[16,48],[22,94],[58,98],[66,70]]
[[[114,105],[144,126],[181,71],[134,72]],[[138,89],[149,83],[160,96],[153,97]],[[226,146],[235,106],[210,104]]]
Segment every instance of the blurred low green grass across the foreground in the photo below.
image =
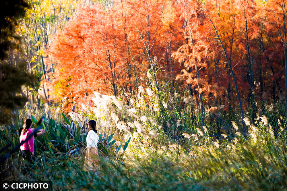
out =
[[38,162],[44,167],[26,175],[18,171],[23,162],[6,165],[13,167],[10,180],[52,180],[54,190],[286,190],[287,155],[271,142],[260,149],[240,144],[232,151],[205,148],[194,158],[148,153],[123,164],[102,158],[97,175],[82,170],[82,155],[46,159]]

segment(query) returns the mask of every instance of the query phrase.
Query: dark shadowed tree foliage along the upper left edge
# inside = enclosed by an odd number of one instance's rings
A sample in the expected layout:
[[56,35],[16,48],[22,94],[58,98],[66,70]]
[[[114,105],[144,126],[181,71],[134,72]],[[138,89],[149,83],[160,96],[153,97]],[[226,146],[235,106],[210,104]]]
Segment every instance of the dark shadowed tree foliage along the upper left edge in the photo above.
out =
[[[24,105],[26,98],[20,94],[21,87],[34,81],[21,58],[20,37],[15,34],[18,20],[28,7],[25,0],[0,1],[0,124],[11,119],[15,107]],[[15,56],[15,51],[20,55]]]

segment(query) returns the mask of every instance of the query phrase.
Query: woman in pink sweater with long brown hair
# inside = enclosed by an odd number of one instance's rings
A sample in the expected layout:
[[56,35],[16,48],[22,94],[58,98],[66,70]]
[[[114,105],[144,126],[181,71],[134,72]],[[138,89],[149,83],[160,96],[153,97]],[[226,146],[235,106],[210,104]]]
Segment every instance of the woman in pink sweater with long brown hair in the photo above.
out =
[[[20,135],[20,142],[26,140],[29,135],[33,134],[31,130],[32,120],[25,119],[23,130]],[[32,161],[34,157],[34,136],[31,136],[30,139],[20,146],[20,150],[24,159]]]

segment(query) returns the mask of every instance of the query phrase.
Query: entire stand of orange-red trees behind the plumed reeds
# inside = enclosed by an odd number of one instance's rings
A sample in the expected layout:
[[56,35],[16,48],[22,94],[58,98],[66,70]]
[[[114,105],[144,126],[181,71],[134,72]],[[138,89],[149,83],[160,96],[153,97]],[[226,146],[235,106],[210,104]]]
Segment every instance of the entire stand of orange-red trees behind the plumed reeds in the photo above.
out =
[[246,114],[255,119],[257,109],[264,109],[257,103],[284,100],[284,5],[284,0],[83,5],[49,49],[57,63],[54,94],[75,104],[87,102],[92,91],[131,97],[151,80],[158,90],[160,80],[170,80],[172,91],[186,89],[195,98],[203,126],[205,108],[225,105],[230,116],[239,109],[245,132]]

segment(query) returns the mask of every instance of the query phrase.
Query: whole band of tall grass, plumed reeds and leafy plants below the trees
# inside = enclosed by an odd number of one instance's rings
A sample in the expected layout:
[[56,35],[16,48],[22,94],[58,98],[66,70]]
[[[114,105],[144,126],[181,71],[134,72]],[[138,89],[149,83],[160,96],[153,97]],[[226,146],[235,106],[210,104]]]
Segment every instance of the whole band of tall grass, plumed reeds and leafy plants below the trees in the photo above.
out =
[[[69,116],[52,104],[45,111],[16,111],[13,123],[0,130],[1,147],[19,143],[27,116],[34,125],[44,116],[46,133],[35,141],[32,166],[15,153],[1,164],[0,177],[52,180],[54,190],[287,190],[286,119],[279,103],[253,122],[247,114],[244,136],[240,115],[230,120],[220,107],[206,110],[201,127],[193,97],[167,88],[139,87],[129,102],[95,93],[94,107]],[[90,119],[100,136],[97,173],[83,171]]]

